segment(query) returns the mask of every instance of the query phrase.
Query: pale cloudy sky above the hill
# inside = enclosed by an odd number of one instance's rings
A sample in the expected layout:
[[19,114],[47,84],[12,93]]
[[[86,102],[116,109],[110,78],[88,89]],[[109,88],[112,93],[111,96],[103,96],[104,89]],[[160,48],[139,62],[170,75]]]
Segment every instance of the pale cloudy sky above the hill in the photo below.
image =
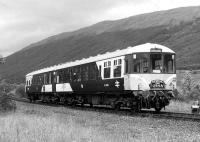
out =
[[0,54],[100,21],[186,6],[200,0],[0,0]]

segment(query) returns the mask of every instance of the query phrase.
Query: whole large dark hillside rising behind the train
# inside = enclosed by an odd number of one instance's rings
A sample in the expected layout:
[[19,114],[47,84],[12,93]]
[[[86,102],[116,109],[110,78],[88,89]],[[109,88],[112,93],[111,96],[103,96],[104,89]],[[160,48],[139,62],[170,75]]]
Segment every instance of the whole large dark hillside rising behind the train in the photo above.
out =
[[24,75],[33,70],[147,42],[173,49],[179,69],[200,69],[200,7],[103,21],[49,37],[7,57],[0,74],[24,82]]

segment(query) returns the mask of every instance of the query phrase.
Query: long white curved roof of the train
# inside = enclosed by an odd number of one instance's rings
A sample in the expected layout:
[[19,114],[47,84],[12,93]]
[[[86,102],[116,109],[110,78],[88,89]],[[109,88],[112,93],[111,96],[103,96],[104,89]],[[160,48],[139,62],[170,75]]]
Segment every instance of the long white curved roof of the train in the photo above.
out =
[[114,52],[107,52],[105,54],[100,54],[100,55],[92,56],[89,58],[83,58],[81,60],[76,60],[73,62],[66,62],[63,64],[50,66],[47,68],[43,68],[43,69],[28,73],[26,76],[32,76],[35,74],[45,73],[45,72],[49,72],[49,71],[55,71],[55,70],[62,69],[62,68],[96,62],[96,61],[100,61],[100,60],[104,60],[104,59],[109,59],[109,58],[114,58],[114,57],[123,56],[123,55],[127,55],[127,54],[132,54],[132,53],[151,52],[151,49],[156,49],[156,48],[161,49],[162,52],[175,53],[173,50],[171,50],[170,48],[168,48],[166,46],[163,46],[160,44],[154,44],[154,43],[145,43],[145,44],[141,44],[141,45],[137,45],[137,46],[133,46],[133,47],[127,47],[127,48],[121,49],[121,50],[116,50]]

